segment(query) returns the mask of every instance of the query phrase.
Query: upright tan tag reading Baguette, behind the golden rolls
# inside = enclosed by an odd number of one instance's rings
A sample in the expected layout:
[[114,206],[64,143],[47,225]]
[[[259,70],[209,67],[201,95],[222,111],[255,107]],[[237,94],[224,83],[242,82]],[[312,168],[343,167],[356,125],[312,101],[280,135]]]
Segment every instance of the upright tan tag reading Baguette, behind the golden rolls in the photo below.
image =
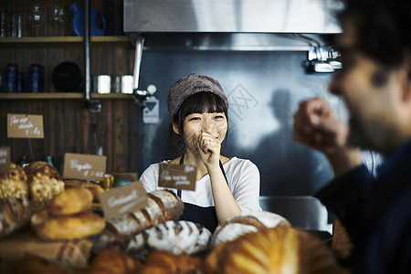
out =
[[106,156],[65,153],[63,174],[70,179],[102,180],[106,174]]

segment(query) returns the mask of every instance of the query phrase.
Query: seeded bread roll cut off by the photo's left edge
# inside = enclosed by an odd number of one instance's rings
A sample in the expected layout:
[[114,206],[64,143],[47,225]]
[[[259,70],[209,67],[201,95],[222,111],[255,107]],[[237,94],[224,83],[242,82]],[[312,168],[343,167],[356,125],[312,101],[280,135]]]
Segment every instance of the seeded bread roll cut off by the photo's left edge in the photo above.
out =
[[27,175],[20,166],[11,163],[9,172],[0,174],[0,199],[27,197]]

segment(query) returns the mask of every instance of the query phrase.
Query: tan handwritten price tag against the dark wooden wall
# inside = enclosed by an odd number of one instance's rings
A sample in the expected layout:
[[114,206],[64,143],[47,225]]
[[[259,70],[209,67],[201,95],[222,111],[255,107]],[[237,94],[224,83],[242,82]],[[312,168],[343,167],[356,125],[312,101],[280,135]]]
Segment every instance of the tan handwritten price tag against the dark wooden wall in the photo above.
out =
[[7,113],[8,138],[44,138],[43,115]]

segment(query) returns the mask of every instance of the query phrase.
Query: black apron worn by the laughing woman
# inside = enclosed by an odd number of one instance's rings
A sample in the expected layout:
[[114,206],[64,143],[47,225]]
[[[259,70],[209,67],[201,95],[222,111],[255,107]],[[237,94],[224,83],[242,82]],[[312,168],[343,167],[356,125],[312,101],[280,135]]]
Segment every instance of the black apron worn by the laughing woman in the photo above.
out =
[[[184,154],[181,156],[180,164],[184,164]],[[220,168],[224,174],[224,177],[227,181],[226,173],[224,172],[223,163],[220,161]],[[177,190],[177,196],[181,199],[181,189]],[[184,212],[183,215],[180,216],[180,220],[187,220],[192,221],[194,223],[198,223],[206,227],[211,233],[214,232],[216,227],[218,226],[218,220],[216,217],[216,207],[215,206],[198,206],[189,203],[184,203]]]

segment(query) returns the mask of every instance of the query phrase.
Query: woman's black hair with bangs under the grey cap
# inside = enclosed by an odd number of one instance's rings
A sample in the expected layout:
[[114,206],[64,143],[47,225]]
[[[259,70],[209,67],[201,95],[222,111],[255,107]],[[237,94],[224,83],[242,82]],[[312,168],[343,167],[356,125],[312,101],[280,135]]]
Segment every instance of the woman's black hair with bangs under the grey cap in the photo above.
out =
[[[224,112],[224,114],[226,114],[228,123],[227,104],[224,100],[221,99],[221,97],[214,94],[213,92],[198,92],[189,96],[186,100],[184,100],[177,113],[175,113],[174,123],[176,124],[178,130],[180,132],[183,132],[185,117],[193,113],[204,112]],[[184,153],[184,136],[182,136],[181,134],[176,134],[173,131],[173,125],[170,125],[169,129],[169,142],[172,148],[174,148],[174,150],[176,150],[178,153]],[[227,136],[225,142],[227,142]]]

